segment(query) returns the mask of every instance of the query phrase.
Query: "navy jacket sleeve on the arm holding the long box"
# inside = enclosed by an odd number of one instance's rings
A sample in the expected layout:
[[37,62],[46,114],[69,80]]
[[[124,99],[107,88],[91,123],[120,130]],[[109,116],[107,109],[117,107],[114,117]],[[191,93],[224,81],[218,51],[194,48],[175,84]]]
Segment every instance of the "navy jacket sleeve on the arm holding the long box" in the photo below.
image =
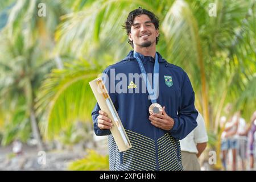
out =
[[[105,71],[103,72],[102,80],[104,80],[104,84],[105,84],[106,89],[108,90],[108,92],[110,90],[110,87],[115,86],[114,78],[110,79],[110,69],[109,68],[106,68]],[[111,80],[113,80],[113,81],[111,81]],[[113,88],[115,88],[115,87],[113,87]],[[115,109],[118,109],[116,94],[109,92],[109,96],[110,96],[110,98],[111,98],[111,100],[112,100],[112,102],[113,102],[113,104],[115,106]],[[108,129],[101,130],[98,127],[98,119],[97,119],[97,117],[98,117],[98,115],[100,115],[98,113],[99,110],[101,110],[101,109],[100,109],[100,106],[97,103],[96,106],[94,106],[94,109],[92,110],[92,119],[93,119],[94,133],[97,136],[110,135],[111,134],[110,130],[108,130]]]

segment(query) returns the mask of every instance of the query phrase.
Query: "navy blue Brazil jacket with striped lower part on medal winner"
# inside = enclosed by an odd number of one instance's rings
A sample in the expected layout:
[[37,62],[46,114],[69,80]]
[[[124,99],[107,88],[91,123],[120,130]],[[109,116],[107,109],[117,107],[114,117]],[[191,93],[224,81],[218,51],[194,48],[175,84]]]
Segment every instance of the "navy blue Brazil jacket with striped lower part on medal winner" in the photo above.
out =
[[[123,123],[130,139],[131,147],[125,152],[119,152],[115,145],[110,130],[101,130],[97,126],[97,117],[100,107],[98,104],[92,111],[94,131],[96,135],[109,135],[109,161],[110,170],[182,170],[181,152],[179,140],[185,138],[197,126],[197,110],[195,109],[195,94],[187,73],[176,65],[167,63],[159,56],[159,97],[157,103],[166,106],[166,113],[174,119],[174,127],[170,131],[153,126],[148,119],[148,93],[142,93],[143,79],[139,82],[129,80],[129,73],[141,74],[137,60],[133,57],[133,51],[118,63],[110,65],[104,73],[109,79],[105,80],[109,95],[112,98],[115,109]],[[154,58],[142,56],[142,62],[147,73],[154,72]],[[110,81],[111,72],[121,74],[121,77]],[[113,77],[113,75],[111,75]],[[123,77],[123,76],[126,76]],[[166,84],[164,76],[171,76],[172,85]],[[119,80],[118,80],[119,79]],[[125,80],[122,80],[125,79]],[[125,82],[126,85],[120,85]],[[128,89],[130,81],[137,88]],[[120,93],[118,88],[124,89]],[[117,90],[110,90],[117,88]],[[133,93],[130,93],[133,92]]]

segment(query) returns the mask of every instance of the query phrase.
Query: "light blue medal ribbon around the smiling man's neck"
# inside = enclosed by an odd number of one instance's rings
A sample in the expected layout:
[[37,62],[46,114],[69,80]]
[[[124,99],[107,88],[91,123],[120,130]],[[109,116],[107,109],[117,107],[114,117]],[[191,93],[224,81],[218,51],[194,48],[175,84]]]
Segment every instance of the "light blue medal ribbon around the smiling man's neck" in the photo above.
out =
[[146,87],[147,87],[148,95],[150,97],[152,104],[154,104],[154,103],[156,103],[156,96],[154,97],[154,93],[157,92],[157,90],[155,90],[155,88],[158,89],[158,80],[156,80],[156,78],[158,78],[158,77],[156,77],[156,74],[159,74],[158,54],[155,53],[155,65],[154,65],[154,74],[153,74],[153,81],[152,81],[153,87],[151,87],[150,82],[147,78],[147,73],[143,66],[140,54],[138,52],[133,51],[133,57],[135,57],[135,59],[137,60],[137,62],[139,64],[139,68],[141,69],[144,83],[146,84]]

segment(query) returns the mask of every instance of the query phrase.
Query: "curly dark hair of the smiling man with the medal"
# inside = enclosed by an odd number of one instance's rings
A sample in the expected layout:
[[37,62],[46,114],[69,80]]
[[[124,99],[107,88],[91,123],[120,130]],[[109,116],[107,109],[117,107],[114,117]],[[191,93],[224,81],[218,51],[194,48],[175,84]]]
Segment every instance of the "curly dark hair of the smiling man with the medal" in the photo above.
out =
[[[123,25],[123,28],[126,29],[127,35],[129,35],[129,33],[131,32],[131,26],[133,25],[133,20],[136,16],[140,16],[142,14],[147,15],[152,23],[155,26],[155,29],[158,30],[159,29],[159,19],[158,16],[156,16],[154,13],[152,13],[151,11],[142,9],[142,7],[139,7],[138,9],[135,9],[133,11],[131,11],[125,21],[125,24]],[[159,34],[160,36],[160,34]],[[156,38],[156,44],[158,44],[159,41],[159,36]],[[133,47],[133,41],[128,39],[128,43],[131,45],[131,47]]]

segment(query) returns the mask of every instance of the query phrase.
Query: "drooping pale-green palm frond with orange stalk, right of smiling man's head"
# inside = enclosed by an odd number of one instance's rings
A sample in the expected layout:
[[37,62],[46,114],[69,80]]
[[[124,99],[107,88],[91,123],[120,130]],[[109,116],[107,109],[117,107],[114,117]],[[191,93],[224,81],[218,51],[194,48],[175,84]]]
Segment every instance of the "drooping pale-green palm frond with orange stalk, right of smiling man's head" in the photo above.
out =
[[[193,71],[197,69],[196,67],[199,67],[199,72],[193,72],[193,74],[200,74],[203,115],[208,126],[208,94],[204,54],[201,48],[201,38],[196,19],[185,1],[174,2],[163,21],[162,31],[169,41],[167,50],[174,64],[182,64],[187,70],[193,68]],[[188,73],[192,72],[188,71]]]

